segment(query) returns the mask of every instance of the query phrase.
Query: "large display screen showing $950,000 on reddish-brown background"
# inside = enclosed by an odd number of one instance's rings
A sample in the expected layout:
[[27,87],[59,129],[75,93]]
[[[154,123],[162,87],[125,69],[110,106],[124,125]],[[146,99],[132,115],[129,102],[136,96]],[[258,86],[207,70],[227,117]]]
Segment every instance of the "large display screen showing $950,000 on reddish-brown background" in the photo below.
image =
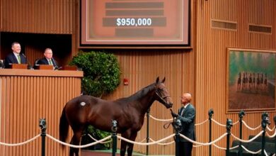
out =
[[190,45],[189,0],[81,0],[81,45]]

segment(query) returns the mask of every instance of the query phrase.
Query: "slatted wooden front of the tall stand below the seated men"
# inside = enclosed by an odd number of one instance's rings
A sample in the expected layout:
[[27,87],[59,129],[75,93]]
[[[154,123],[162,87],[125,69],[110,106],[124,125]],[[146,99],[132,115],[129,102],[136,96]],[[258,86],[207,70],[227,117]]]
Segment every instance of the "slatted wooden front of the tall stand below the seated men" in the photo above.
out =
[[[22,143],[35,137],[41,133],[40,118],[46,118],[47,134],[59,138],[62,108],[69,99],[79,96],[81,77],[66,74],[45,77],[39,74],[40,71],[28,71],[38,72],[36,76],[28,76],[30,73],[22,75],[21,71],[17,72],[19,76],[0,72],[0,142]],[[65,156],[69,155],[68,152],[68,147],[62,150],[58,143],[46,138],[46,155]],[[0,145],[0,155],[41,155],[41,137],[21,146]]]

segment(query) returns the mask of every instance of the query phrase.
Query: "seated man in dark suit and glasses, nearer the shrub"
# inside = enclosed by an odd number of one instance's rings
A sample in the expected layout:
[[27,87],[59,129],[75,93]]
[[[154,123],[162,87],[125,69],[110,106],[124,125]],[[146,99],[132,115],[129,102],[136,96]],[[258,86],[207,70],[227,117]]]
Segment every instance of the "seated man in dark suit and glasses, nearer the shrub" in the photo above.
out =
[[36,65],[52,65],[53,69],[58,69],[57,62],[52,57],[52,49],[46,48],[44,51],[44,56],[42,59],[36,62]]

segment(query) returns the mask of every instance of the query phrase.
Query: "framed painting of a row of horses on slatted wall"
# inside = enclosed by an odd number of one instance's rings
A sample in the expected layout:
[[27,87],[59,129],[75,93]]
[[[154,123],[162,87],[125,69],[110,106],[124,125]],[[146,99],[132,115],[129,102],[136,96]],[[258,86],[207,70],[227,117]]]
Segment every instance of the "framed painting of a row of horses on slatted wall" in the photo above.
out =
[[276,51],[227,48],[226,112],[275,111]]

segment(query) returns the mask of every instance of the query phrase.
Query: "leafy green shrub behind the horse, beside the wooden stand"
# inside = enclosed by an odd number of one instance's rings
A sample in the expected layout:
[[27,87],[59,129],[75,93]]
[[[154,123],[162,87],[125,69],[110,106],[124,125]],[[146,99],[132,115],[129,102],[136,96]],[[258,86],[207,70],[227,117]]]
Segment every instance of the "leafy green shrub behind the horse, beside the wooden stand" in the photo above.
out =
[[[79,52],[73,57],[69,65],[76,65],[84,71],[84,77],[81,81],[81,90],[83,94],[102,97],[110,94],[120,84],[120,66],[115,55],[107,52]],[[97,140],[110,135],[110,133],[97,130],[93,126],[88,126],[86,133],[89,133]],[[91,143],[91,138],[83,137],[81,144]],[[88,147],[90,150],[98,150],[101,145]],[[105,148],[110,147],[110,143],[104,144]]]

